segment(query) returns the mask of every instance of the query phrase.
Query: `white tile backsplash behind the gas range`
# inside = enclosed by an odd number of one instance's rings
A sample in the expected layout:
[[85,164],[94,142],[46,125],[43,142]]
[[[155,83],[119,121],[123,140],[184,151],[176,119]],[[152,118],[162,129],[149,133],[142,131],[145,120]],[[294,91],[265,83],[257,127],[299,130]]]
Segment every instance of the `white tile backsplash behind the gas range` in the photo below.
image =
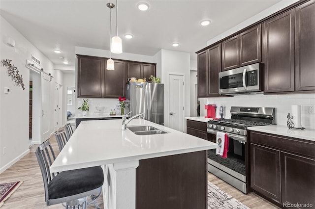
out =
[[[307,129],[315,129],[315,112],[309,113],[308,106],[315,105],[315,94],[285,94],[285,95],[236,95],[234,97],[200,98],[200,116],[206,115],[204,104],[224,106],[224,118],[230,118],[231,106],[262,106],[276,107],[276,124],[286,126],[287,114],[291,113],[291,105],[301,105],[301,124]],[[217,108],[216,117],[219,116]]]

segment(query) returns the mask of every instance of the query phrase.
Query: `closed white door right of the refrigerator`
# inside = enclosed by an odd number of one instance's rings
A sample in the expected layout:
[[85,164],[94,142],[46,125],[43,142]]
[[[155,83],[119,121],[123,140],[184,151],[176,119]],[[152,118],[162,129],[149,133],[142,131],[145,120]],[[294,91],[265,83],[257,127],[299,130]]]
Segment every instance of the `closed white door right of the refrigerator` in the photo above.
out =
[[169,128],[184,131],[184,76],[169,75]]

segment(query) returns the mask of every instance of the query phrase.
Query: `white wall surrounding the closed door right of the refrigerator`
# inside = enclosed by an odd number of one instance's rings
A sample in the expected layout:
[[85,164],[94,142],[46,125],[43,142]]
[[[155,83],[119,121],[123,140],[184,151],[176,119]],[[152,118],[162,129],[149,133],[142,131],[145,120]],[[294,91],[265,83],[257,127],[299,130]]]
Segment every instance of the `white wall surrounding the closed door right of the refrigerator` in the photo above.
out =
[[[184,117],[190,116],[190,54],[171,50],[161,50],[161,82],[164,83],[164,125],[168,124],[169,115],[169,84],[170,73],[182,73],[185,76],[185,112]],[[185,129],[184,129],[185,130]]]

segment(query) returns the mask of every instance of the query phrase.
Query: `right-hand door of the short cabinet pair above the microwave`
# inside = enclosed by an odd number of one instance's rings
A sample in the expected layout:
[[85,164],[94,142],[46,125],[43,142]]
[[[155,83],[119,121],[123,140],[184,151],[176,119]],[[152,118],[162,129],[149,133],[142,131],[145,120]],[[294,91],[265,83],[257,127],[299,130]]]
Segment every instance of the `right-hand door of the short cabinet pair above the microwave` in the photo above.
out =
[[261,25],[239,35],[240,66],[250,65],[261,61]]

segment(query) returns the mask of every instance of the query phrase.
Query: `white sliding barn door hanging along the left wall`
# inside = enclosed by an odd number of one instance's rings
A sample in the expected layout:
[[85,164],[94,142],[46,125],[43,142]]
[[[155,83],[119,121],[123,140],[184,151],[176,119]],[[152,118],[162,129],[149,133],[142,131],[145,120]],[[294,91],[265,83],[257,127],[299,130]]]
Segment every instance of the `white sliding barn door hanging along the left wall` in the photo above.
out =
[[41,73],[41,143],[50,137],[50,76]]

